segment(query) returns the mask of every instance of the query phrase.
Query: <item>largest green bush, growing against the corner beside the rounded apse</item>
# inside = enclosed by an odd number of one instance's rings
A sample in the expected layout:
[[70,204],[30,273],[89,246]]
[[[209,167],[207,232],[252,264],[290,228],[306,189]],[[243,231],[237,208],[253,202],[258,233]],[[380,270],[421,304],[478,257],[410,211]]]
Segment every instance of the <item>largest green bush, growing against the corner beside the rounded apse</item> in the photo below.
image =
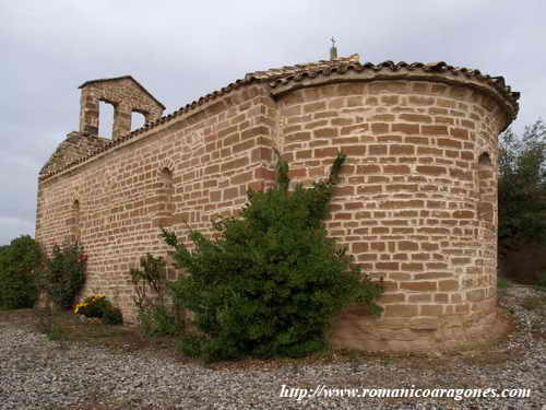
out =
[[249,192],[239,219],[214,222],[215,239],[191,232],[191,250],[163,230],[187,272],[170,285],[175,302],[193,313],[198,330],[182,339],[183,353],[205,361],[302,356],[327,347],[328,326],[348,304],[380,312],[381,286],[351,268],[322,222],[344,161],[340,153],[328,180],[289,192],[288,165],[278,160],[276,186]]

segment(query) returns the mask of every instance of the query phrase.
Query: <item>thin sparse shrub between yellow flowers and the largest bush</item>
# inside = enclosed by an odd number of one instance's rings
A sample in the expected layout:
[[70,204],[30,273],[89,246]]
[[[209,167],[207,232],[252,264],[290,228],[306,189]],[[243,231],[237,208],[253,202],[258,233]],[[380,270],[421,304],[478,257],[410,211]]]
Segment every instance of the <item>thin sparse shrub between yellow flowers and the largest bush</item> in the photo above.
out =
[[141,269],[131,269],[134,304],[139,311],[139,326],[147,337],[175,336],[179,331],[174,309],[166,295],[166,262],[158,256],[146,254],[141,258]]

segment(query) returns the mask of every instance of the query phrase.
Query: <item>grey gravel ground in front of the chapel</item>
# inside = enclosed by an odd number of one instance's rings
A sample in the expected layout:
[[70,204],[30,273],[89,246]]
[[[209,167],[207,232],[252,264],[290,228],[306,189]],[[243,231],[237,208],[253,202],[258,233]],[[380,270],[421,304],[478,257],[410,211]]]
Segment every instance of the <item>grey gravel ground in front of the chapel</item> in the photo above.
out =
[[[0,319],[0,409],[545,409],[545,305],[527,309],[524,286],[503,291],[517,331],[488,351],[430,358],[353,358],[334,364],[212,370],[139,351],[49,341],[32,326]],[[272,366],[275,367],[275,366]],[[302,399],[298,388],[527,388],[531,397]]]

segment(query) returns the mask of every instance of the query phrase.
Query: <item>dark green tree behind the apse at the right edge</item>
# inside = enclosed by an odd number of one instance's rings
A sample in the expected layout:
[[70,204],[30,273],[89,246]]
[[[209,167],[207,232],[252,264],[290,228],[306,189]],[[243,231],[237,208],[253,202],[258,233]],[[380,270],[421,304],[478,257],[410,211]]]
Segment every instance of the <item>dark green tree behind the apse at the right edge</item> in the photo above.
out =
[[499,138],[499,250],[546,242],[546,126]]

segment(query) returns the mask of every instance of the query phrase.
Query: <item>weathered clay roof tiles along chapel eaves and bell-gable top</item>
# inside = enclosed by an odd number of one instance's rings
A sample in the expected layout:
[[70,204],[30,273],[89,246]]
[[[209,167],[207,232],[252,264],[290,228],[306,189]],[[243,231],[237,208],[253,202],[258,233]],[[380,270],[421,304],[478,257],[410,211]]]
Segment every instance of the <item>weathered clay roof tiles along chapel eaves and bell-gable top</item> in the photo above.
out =
[[[472,70],[467,68],[461,68],[461,67],[453,67],[449,66],[443,61],[439,62],[430,62],[430,63],[424,63],[424,62],[393,62],[393,61],[384,61],[378,65],[371,63],[371,62],[366,62],[366,63],[360,63],[359,62],[359,57],[357,54],[352,55],[349,57],[341,57],[336,58],[333,60],[320,60],[317,62],[310,62],[310,63],[304,63],[304,65],[296,65],[296,66],[287,66],[287,67],[282,67],[277,69],[270,69],[265,71],[254,71],[251,73],[248,73],[245,75],[244,79],[237,80],[227,86],[214,91],[210,94],[206,94],[199,98],[198,101],[192,102],[191,104],[187,104],[186,106],[177,109],[176,112],[168,114],[158,120],[154,122],[146,122],[144,126],[141,128],[131,131],[130,133],[127,133],[124,136],[121,136],[117,138],[116,140],[111,140],[108,143],[106,143],[104,147],[100,149],[92,152],[90,155],[83,156],[67,166],[64,166],[62,169],[56,169],[51,173],[45,173],[40,174],[41,179],[47,179],[56,174],[59,174],[63,172],[64,169],[68,169],[72,166],[75,166],[78,164],[86,162],[88,159],[98,155],[102,152],[108,151],[112,149],[116,145],[119,145],[128,140],[131,140],[132,138],[135,138],[136,136],[149,131],[150,129],[153,129],[159,125],[163,125],[165,122],[170,121],[175,117],[178,117],[180,115],[183,115],[186,113],[189,113],[199,106],[202,106],[206,104],[210,101],[213,101],[224,94],[227,94],[232,92],[233,90],[239,89],[240,86],[251,84],[251,83],[268,83],[269,86],[273,90],[276,87],[282,87],[289,85],[290,83],[298,83],[300,81],[304,81],[306,79],[310,78],[317,78],[317,77],[329,77],[332,74],[345,74],[347,72],[355,72],[355,73],[369,73],[373,72],[377,74],[378,78],[381,77],[381,73],[384,72],[401,72],[401,78],[403,78],[403,73],[405,72],[416,72],[416,73],[429,73],[429,74],[441,74],[441,73],[447,73],[450,75],[459,77],[461,75],[462,78],[466,78],[470,80],[476,80],[480,83],[484,83],[486,85],[489,85],[494,87],[500,95],[502,95],[507,102],[509,103],[509,106],[511,107],[511,116],[508,122],[510,122],[517,115],[519,105],[518,105],[518,99],[520,98],[520,93],[513,92],[510,86],[506,85],[505,79],[502,77],[490,77],[488,74],[483,74],[478,70]],[[112,80],[120,80],[124,78],[131,78],[130,75],[124,75],[116,79],[103,79],[103,80],[93,80],[93,81],[87,81],[83,83],[80,87],[97,82],[97,81],[112,81]],[[134,79],[132,79],[136,84],[139,84]],[[140,85],[140,84],[139,84]],[[142,85],[140,85],[142,87]],[[142,87],[144,89],[144,87]],[[145,90],[145,89],[144,89]]]

